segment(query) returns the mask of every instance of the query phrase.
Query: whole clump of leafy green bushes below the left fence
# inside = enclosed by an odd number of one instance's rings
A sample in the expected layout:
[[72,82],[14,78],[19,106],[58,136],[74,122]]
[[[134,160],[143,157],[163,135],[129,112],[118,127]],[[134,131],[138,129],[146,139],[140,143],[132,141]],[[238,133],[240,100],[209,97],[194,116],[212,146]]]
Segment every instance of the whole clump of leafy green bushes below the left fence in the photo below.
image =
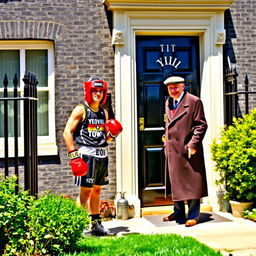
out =
[[70,198],[39,199],[0,177],[0,255],[57,255],[76,246],[89,224],[87,212]]

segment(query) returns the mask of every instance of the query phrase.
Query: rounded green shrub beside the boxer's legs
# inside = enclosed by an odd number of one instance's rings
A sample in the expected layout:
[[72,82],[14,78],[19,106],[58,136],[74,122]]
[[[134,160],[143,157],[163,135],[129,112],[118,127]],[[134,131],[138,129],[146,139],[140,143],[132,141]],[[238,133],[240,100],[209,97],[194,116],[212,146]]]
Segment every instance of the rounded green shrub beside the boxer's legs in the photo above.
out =
[[69,251],[89,225],[88,213],[83,207],[78,207],[70,198],[53,194],[36,200],[28,217],[34,253],[43,255]]

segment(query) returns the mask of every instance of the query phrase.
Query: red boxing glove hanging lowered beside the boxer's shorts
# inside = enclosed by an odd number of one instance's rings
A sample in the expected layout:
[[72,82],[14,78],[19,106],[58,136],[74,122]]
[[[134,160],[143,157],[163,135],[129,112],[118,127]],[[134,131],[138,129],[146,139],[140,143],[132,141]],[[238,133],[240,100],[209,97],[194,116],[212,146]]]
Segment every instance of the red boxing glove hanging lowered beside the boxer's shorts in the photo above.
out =
[[84,176],[88,172],[87,163],[80,157],[78,150],[74,149],[68,152],[70,166],[74,176]]

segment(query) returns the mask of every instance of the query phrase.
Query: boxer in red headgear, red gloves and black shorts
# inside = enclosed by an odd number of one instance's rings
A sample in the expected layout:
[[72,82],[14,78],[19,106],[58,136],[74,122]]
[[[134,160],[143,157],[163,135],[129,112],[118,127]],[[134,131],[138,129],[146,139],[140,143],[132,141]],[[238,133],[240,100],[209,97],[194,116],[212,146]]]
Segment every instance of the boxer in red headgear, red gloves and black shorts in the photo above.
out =
[[100,194],[102,186],[109,184],[106,147],[122,126],[115,119],[108,120],[108,112],[101,107],[107,99],[106,81],[92,78],[84,83],[84,90],[85,102],[73,109],[63,137],[75,184],[80,186],[78,200],[90,210],[92,234],[105,236],[109,231],[101,222]]

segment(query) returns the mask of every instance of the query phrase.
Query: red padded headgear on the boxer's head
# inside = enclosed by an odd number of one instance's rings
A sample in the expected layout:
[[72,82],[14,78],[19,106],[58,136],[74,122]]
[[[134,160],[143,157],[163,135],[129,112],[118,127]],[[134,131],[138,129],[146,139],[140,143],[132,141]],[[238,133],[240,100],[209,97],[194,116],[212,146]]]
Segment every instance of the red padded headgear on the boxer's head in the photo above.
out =
[[84,82],[84,99],[90,104],[92,101],[92,89],[103,89],[103,98],[100,102],[101,105],[106,103],[108,96],[108,83],[100,78],[94,77],[89,81]]

